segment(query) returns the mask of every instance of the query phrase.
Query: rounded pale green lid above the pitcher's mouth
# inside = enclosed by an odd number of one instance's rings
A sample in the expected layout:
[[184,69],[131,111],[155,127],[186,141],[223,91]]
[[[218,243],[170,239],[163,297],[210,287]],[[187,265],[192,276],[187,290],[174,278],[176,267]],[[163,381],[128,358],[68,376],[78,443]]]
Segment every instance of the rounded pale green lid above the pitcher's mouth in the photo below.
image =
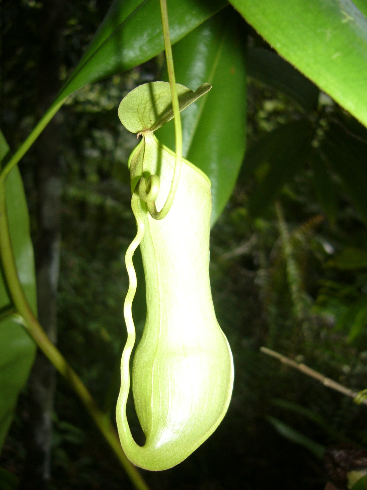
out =
[[[209,92],[204,83],[195,92],[176,83],[180,111]],[[137,107],[141,110],[137,111]],[[173,118],[171,89],[168,82],[149,82],[139,85],[121,100],[118,107],[121,123],[132,133],[156,131]]]

